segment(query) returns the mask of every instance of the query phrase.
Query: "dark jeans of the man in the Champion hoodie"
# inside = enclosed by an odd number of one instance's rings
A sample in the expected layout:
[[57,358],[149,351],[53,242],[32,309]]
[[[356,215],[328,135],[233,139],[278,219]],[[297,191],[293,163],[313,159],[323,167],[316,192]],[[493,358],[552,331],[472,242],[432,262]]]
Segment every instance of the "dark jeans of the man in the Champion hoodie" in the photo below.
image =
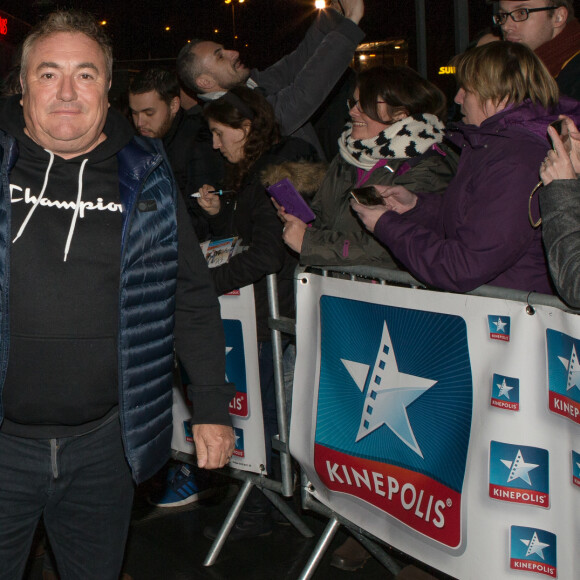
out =
[[134,485],[118,417],[79,437],[0,433],[0,580],[18,580],[44,516],[61,580],[118,580]]

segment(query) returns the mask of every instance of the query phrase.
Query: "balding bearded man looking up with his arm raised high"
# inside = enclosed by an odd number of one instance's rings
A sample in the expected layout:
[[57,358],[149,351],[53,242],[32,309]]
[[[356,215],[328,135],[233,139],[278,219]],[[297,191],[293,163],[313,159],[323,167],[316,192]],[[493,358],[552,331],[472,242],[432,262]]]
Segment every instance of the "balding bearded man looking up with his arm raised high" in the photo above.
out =
[[181,49],[177,72],[204,100],[219,98],[236,85],[259,87],[274,107],[282,133],[309,141],[324,158],[309,120],[364,38],[358,27],[363,14],[364,0],[333,0],[330,9],[319,11],[298,48],[263,71],[250,70],[236,50],[211,40],[194,40]]

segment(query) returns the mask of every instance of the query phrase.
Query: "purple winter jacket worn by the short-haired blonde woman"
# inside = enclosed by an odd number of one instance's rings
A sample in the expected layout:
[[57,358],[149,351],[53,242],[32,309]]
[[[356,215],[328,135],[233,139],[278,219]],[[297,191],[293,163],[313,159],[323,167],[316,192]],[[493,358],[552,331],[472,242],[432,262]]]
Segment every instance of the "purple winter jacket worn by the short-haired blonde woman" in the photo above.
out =
[[[486,119],[460,123],[448,138],[461,147],[457,174],[442,196],[419,194],[405,214],[388,211],[375,236],[426,284],[468,292],[483,284],[553,294],[541,230],[528,199],[550,144],[548,124],[580,103],[562,98],[552,111],[524,101]],[[539,217],[538,196],[532,215]]]

